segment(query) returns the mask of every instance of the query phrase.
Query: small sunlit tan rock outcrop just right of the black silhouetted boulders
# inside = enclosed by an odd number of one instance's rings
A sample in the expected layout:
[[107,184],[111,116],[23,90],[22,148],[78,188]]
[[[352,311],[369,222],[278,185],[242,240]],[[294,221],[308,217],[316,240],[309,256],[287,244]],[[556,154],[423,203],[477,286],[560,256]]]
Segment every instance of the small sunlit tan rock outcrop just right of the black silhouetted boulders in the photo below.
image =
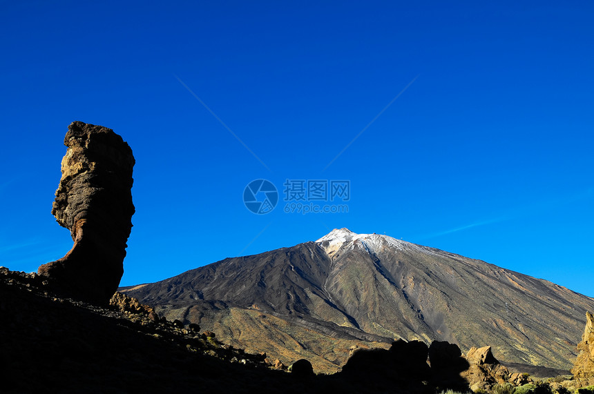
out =
[[499,364],[499,361],[491,353],[491,346],[470,348],[466,359],[470,366],[461,375],[468,381],[472,391],[490,391],[495,384],[511,382],[521,385],[529,382],[526,375],[521,373],[511,375],[506,366]]

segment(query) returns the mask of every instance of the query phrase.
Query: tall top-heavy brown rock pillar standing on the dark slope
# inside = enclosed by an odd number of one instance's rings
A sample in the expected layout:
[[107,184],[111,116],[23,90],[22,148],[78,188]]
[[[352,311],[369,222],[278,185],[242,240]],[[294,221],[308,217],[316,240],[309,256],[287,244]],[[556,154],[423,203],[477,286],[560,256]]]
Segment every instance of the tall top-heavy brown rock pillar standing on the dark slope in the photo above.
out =
[[38,271],[76,297],[107,304],[124,273],[135,160],[113,130],[81,121],[68,126],[64,145],[52,214],[70,230],[74,246]]

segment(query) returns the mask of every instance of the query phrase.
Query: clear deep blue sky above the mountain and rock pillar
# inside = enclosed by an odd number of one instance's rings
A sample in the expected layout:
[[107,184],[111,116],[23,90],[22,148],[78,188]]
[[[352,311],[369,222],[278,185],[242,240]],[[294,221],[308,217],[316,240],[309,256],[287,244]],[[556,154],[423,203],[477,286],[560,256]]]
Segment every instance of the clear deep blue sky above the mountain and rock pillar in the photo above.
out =
[[[0,1],[0,265],[33,271],[72,246],[50,210],[79,120],[137,161],[122,285],[347,227],[594,296],[593,14],[586,0]],[[265,215],[242,200],[254,179],[278,188]],[[287,179],[350,181],[348,212],[285,213]]]

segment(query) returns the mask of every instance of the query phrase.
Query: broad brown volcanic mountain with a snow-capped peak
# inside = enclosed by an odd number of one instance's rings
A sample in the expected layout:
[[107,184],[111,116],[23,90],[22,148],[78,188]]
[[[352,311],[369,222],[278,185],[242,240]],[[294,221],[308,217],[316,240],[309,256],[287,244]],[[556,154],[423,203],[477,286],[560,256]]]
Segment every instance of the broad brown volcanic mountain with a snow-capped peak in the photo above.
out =
[[346,228],[122,290],[222,342],[324,372],[354,346],[396,338],[490,345],[502,362],[567,370],[594,311],[594,299],[552,282]]

